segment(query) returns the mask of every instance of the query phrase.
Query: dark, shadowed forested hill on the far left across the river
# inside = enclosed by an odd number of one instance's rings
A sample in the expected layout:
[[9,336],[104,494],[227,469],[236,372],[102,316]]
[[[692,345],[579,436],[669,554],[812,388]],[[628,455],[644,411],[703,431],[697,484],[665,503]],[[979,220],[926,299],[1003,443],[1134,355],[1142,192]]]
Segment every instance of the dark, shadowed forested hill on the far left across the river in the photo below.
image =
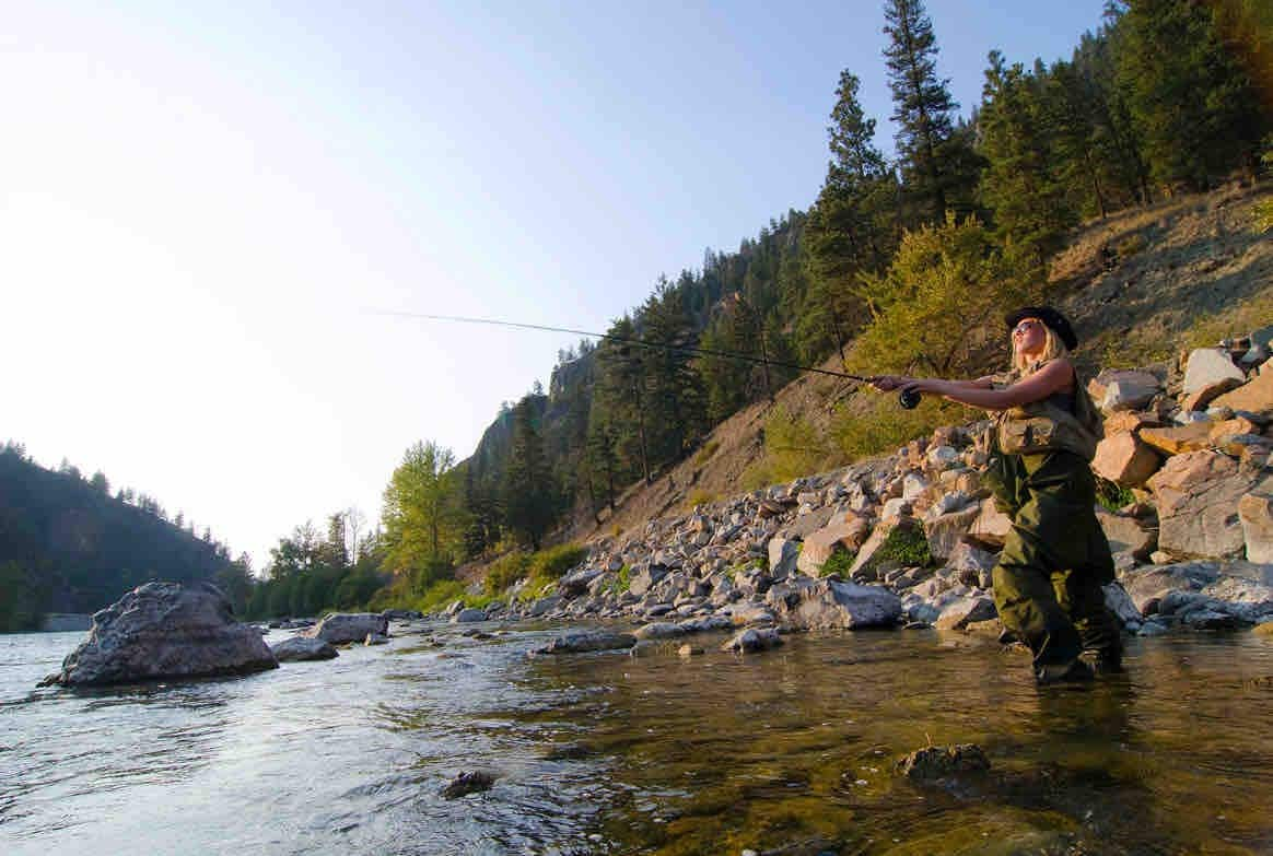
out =
[[[131,501],[130,501],[131,499]],[[153,579],[211,579],[230,565],[223,544],[163,516],[149,497],[112,496],[98,473],[45,469],[0,448],[0,631],[42,613],[92,613]]]

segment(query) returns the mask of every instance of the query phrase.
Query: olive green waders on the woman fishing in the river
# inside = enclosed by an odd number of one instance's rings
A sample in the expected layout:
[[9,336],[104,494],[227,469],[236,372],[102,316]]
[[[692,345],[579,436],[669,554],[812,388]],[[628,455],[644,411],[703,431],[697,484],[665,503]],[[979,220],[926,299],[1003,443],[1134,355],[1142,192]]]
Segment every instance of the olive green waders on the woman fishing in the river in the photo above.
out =
[[1073,663],[1083,650],[1116,659],[1122,647],[1101,589],[1114,560],[1096,519],[1096,480],[1072,452],[995,455],[990,482],[1012,518],[994,567],[1003,626],[1034,652],[1035,669]]

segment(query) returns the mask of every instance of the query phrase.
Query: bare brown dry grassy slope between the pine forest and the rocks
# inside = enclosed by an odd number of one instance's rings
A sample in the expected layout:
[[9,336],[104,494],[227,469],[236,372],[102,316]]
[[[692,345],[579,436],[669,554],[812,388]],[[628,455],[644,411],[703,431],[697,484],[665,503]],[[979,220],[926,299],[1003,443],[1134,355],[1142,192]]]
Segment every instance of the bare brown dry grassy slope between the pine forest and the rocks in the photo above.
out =
[[[1255,200],[1268,195],[1273,186],[1267,183],[1256,190],[1230,187],[1078,228],[1055,257],[1049,280],[1051,301],[1069,314],[1085,342],[1078,355],[1085,368],[1161,361],[1179,350],[1181,335],[1198,318],[1273,295],[1273,238],[1250,229]],[[1101,254],[1106,245],[1118,253],[1109,270]],[[838,369],[839,359],[824,368]],[[687,511],[695,491],[721,499],[740,492],[742,473],[764,455],[763,429],[774,407],[825,434],[835,404],[852,404],[857,387],[826,375],[798,378],[778,392],[775,403],[752,404],[718,425],[699,454],[649,486],[634,485],[612,516],[602,515],[601,525],[589,520],[570,537],[639,530],[653,518]]]

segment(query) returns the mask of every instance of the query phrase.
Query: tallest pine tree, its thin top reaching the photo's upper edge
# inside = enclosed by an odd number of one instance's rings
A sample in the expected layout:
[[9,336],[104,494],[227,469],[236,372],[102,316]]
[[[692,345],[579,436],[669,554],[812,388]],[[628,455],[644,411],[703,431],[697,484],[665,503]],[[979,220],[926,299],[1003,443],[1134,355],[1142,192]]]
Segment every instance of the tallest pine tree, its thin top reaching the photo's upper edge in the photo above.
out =
[[923,1],[887,0],[883,14],[903,182],[908,195],[927,201],[920,220],[941,221],[952,192],[959,192],[945,160],[959,104],[951,98],[950,80],[937,76],[937,38]]

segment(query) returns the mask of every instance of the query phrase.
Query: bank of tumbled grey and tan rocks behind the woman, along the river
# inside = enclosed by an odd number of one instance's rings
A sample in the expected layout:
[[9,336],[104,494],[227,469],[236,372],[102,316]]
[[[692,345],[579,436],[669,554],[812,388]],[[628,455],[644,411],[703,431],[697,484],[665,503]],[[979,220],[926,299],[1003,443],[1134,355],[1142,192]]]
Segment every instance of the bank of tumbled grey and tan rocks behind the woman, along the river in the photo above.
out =
[[[1273,327],[1174,365],[1108,370],[1094,471],[1115,553],[1106,599],[1129,632],[1273,622]],[[602,538],[555,590],[519,586],[453,621],[635,619],[723,627],[900,623],[998,632],[990,569],[1011,521],[983,485],[989,422],[895,454]],[[638,636],[642,631],[638,631]]]

